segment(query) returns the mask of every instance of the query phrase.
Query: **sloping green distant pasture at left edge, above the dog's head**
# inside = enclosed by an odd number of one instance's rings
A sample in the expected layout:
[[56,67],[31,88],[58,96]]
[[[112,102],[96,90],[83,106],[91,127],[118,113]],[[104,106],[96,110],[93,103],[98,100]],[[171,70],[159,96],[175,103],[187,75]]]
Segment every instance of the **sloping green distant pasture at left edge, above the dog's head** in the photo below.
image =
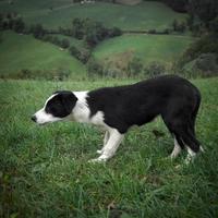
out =
[[33,36],[3,32],[0,43],[0,74],[10,75],[21,70],[65,70],[71,76],[81,76],[85,66],[65,50]]

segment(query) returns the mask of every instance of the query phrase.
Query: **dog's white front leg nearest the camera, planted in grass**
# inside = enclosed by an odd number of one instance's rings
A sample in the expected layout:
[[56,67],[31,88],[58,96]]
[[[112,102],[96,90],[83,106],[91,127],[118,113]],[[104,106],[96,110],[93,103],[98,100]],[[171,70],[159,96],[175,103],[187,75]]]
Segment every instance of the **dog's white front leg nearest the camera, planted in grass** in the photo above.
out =
[[96,158],[90,160],[92,162],[100,162],[100,161],[106,161],[109,158],[111,158],[114,154],[116,150],[118,149],[120,143],[123,140],[123,134],[119,133],[117,129],[110,129],[109,130],[109,138],[107,144],[104,146],[104,152],[102,154]]

